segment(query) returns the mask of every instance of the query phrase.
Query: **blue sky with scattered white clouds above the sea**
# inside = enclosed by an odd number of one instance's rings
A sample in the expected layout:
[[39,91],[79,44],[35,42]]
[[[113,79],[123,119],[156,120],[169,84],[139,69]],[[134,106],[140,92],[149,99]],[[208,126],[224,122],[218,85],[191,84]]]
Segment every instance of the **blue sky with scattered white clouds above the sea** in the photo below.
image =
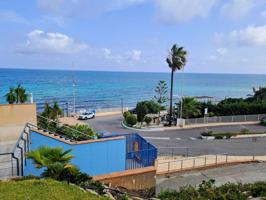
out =
[[[266,0],[2,0],[0,68],[266,74]],[[73,63],[73,64],[72,64]]]

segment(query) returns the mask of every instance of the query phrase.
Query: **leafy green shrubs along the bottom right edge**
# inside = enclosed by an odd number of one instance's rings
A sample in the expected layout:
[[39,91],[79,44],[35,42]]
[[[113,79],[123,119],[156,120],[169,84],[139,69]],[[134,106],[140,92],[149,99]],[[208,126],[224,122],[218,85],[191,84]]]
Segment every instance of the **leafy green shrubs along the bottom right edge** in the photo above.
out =
[[179,191],[163,191],[159,198],[162,200],[246,200],[249,197],[266,197],[266,182],[254,184],[226,183],[219,187],[214,180],[203,181],[199,187],[185,186]]

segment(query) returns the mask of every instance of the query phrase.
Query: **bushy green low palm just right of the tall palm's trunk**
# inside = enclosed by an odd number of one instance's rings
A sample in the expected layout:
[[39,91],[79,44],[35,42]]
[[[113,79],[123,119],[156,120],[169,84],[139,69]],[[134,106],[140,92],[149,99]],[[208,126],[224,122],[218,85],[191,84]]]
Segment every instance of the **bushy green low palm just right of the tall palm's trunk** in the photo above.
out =
[[[200,105],[198,101],[193,97],[184,97],[182,99],[183,102],[183,109],[182,109],[182,116],[185,118],[191,118],[191,117],[198,117],[201,115]],[[176,114],[178,115],[180,110],[180,103],[177,103],[177,110]]]

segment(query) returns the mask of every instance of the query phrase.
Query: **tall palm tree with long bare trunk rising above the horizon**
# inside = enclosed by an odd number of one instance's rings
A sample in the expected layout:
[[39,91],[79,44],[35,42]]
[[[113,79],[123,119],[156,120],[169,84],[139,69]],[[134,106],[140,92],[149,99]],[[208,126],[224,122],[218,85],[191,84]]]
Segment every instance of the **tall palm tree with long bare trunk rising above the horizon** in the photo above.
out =
[[174,82],[174,72],[176,70],[181,70],[185,66],[187,61],[187,52],[184,47],[178,47],[176,44],[173,45],[166,62],[171,69],[171,90],[170,90],[170,113],[169,113],[169,125],[172,125],[173,116],[173,82]]

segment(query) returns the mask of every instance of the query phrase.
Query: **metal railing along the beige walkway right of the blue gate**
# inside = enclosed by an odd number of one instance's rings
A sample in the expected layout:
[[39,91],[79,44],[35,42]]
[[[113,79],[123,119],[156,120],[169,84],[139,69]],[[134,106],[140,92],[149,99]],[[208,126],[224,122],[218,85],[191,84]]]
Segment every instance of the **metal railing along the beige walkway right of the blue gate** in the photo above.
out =
[[255,156],[229,156],[228,154],[205,155],[169,160],[158,159],[157,174],[182,172],[185,170],[193,170],[227,163],[251,162],[255,160]]

